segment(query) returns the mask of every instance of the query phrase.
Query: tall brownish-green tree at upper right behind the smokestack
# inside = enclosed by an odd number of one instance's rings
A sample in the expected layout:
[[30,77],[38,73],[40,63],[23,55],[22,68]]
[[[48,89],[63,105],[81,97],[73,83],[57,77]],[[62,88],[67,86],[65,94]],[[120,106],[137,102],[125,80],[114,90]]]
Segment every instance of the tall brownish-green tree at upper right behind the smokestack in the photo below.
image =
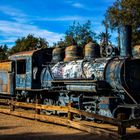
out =
[[132,25],[132,44],[140,44],[140,1],[116,0],[105,14],[111,30],[118,32],[118,45],[120,46],[120,32],[124,25]]

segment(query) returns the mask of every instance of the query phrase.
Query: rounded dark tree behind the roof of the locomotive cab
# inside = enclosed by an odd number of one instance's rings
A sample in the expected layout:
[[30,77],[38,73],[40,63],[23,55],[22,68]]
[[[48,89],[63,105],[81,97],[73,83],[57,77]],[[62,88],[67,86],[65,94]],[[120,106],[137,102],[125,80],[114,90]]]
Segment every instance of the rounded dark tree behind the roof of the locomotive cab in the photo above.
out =
[[29,34],[27,37],[22,37],[15,41],[15,46],[10,50],[10,54],[46,47],[48,47],[48,42],[44,38],[34,37]]

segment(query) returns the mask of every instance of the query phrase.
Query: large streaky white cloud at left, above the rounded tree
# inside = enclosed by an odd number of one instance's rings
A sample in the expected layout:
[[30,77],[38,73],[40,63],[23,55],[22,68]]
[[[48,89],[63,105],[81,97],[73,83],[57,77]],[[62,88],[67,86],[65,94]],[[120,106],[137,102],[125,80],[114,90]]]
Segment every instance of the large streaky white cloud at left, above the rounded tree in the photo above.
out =
[[[63,34],[51,32],[47,29],[42,29],[37,25],[31,25],[33,17],[29,17],[19,9],[9,6],[0,6],[0,12],[8,15],[10,20],[0,20],[0,44],[14,44],[15,40],[20,37],[33,34],[36,37],[45,38],[50,45],[63,38]],[[59,19],[58,19],[59,20]],[[62,18],[60,20],[63,20]]]

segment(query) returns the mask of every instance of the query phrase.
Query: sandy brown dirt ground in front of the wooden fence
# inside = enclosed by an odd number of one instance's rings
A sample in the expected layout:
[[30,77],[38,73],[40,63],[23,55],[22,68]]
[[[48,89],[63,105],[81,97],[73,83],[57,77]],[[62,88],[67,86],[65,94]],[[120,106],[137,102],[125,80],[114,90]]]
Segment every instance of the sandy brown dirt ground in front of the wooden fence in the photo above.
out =
[[80,130],[0,113],[0,140],[108,140]]

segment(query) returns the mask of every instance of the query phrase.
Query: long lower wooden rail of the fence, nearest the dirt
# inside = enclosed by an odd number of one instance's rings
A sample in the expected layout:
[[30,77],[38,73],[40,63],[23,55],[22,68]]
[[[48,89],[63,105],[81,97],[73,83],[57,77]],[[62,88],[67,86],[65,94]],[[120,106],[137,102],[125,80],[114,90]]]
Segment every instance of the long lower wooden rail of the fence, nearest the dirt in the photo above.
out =
[[109,132],[107,130],[103,130],[101,128],[97,127],[90,127],[88,125],[83,125],[80,122],[74,122],[67,120],[66,118],[61,117],[55,117],[55,116],[46,116],[46,115],[38,115],[38,114],[31,114],[31,113],[25,113],[21,111],[10,111],[9,109],[0,109],[1,113],[11,114],[14,116],[29,118],[29,119],[36,119],[40,121],[47,121],[54,124],[64,125],[64,126],[70,126],[72,128],[76,128],[82,131],[86,131],[92,134],[99,134],[99,135],[107,135],[109,137],[116,137],[116,134],[113,132]]

